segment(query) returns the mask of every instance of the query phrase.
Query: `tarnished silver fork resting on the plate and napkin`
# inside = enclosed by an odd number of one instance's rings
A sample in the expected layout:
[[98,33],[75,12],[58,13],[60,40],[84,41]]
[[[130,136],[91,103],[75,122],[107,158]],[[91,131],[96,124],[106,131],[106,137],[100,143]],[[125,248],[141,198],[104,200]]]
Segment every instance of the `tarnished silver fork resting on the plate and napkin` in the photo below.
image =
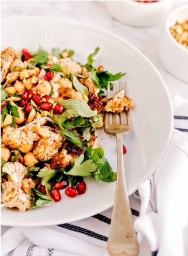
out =
[[[115,85],[113,87],[113,94],[115,94]],[[124,82],[124,88],[122,82],[120,82],[118,89],[124,89],[124,92],[127,95],[126,82]],[[107,98],[110,97],[109,83],[106,96]],[[111,115],[112,118],[110,119]],[[124,124],[124,120],[127,121],[127,124]],[[104,130],[107,133],[115,135],[117,142],[117,181],[114,208],[107,243],[108,253],[111,256],[137,256],[139,247],[136,232],[133,227],[133,218],[129,205],[123,166],[123,135],[128,135],[132,132],[129,111],[123,111],[119,114],[105,112]]]

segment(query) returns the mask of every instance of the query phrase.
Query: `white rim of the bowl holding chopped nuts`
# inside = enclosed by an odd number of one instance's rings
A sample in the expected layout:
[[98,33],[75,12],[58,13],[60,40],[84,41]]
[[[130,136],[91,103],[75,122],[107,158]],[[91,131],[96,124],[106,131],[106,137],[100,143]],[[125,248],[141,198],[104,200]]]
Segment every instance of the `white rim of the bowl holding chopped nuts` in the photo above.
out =
[[[183,5],[181,7],[176,8],[174,11],[172,11],[169,16],[167,17],[166,21],[165,21],[165,31],[167,31],[167,35],[169,36],[170,40],[175,44],[175,46],[178,46],[179,49],[183,50],[186,52],[186,54],[188,54],[188,49],[186,49],[185,47],[183,47],[179,42],[176,41],[176,39],[173,37],[173,35],[171,35],[170,33],[170,26],[169,26],[169,21],[170,19],[176,15],[179,11],[187,9],[188,11],[188,5]],[[178,19],[177,19],[178,20]]]

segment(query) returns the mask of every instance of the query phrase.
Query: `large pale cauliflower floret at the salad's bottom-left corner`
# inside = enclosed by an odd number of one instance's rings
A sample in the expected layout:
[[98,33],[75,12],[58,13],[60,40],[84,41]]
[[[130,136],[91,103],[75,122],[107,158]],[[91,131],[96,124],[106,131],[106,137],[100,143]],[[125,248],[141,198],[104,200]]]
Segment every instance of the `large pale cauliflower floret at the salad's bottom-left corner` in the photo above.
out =
[[24,165],[19,162],[4,164],[2,171],[10,176],[12,182],[2,184],[1,206],[17,207],[20,212],[25,212],[32,206],[28,193],[31,188],[35,187],[35,183],[31,178],[24,178],[26,170]]

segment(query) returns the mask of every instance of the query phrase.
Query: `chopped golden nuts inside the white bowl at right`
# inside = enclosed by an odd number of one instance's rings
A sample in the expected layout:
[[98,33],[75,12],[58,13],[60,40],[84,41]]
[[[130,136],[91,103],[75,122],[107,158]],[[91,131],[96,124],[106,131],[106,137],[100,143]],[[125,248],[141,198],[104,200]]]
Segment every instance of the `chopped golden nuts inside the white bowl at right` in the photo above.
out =
[[188,19],[178,20],[177,23],[169,29],[176,41],[188,49]]

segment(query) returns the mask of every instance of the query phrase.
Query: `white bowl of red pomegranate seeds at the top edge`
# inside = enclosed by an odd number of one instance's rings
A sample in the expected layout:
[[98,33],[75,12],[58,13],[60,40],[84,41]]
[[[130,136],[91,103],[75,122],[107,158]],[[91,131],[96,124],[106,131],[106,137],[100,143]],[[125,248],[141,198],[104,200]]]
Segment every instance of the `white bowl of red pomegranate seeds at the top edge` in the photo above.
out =
[[173,1],[139,3],[136,1],[106,1],[108,11],[117,20],[131,26],[152,26],[163,21]]

